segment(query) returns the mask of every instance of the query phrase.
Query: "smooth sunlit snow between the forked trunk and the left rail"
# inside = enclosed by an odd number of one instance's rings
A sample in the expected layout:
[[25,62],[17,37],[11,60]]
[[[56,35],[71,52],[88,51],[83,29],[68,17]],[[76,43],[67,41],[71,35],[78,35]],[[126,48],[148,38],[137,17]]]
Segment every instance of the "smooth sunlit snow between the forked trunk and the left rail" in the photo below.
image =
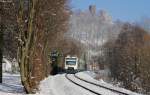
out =
[[95,95],[65,78],[65,74],[49,76],[39,86],[40,95]]

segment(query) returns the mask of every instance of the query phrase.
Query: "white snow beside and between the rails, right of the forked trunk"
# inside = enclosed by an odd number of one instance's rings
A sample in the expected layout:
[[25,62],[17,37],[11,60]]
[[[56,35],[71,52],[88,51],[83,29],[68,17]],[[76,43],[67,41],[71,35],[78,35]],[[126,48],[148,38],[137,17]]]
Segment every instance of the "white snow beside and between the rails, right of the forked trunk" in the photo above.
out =
[[[88,81],[101,84],[103,86],[123,91],[125,93],[128,93],[129,95],[139,95],[137,93],[131,92],[129,90],[115,87],[111,84],[108,84],[104,82],[103,80],[97,81],[93,77],[95,74],[93,72],[80,72],[76,74],[77,76],[86,79]],[[68,75],[70,79],[72,79],[74,82],[79,83],[82,86],[86,86],[86,88],[89,88],[91,90],[94,90],[102,95],[118,95],[117,93],[111,92],[109,90],[106,90],[104,88],[100,88],[97,86],[93,86],[91,84],[85,83],[79,79],[76,79],[72,74]],[[39,91],[37,92],[38,95],[95,95],[73,83],[71,83],[69,80],[65,78],[65,74],[58,74],[55,76],[49,76],[45,80],[43,80],[39,85]]]

